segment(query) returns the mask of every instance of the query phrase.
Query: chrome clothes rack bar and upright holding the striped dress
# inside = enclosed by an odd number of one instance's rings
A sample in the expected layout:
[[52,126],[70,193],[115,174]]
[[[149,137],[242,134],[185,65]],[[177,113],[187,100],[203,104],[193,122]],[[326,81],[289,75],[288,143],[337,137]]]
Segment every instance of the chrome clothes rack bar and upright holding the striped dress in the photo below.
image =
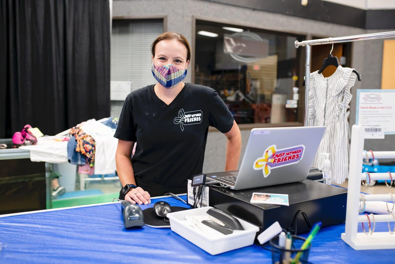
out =
[[395,31],[379,32],[371,34],[362,34],[346,37],[336,37],[336,38],[320,38],[317,40],[305,40],[302,42],[295,41],[295,47],[306,46],[306,72],[305,72],[305,126],[308,122],[308,93],[309,93],[309,83],[310,83],[310,53],[312,45],[322,45],[322,44],[332,44],[341,42],[354,42],[359,40],[373,40],[378,38],[392,38],[395,37]]

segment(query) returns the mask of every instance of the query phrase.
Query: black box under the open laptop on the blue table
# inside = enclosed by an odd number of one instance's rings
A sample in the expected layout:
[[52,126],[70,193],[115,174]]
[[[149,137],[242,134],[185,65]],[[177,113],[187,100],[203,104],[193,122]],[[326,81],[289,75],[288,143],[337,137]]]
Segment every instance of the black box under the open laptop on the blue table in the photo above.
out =
[[[290,206],[250,203],[253,192],[288,194]],[[347,189],[314,180],[239,191],[210,186],[209,191],[209,206],[255,224],[261,232],[276,221],[282,228],[289,228],[299,210],[306,213],[311,224],[338,224],[346,220],[346,203]],[[297,233],[310,230],[301,214],[295,222]]]

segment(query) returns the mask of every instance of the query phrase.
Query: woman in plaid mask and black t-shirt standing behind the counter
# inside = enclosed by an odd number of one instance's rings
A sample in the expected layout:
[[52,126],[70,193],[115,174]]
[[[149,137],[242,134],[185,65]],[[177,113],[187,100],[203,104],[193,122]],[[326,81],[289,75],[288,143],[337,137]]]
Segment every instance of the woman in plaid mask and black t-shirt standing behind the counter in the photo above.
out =
[[166,192],[186,192],[187,179],[202,173],[209,126],[228,138],[226,171],[237,168],[241,151],[239,127],[218,93],[182,82],[191,57],[186,38],[163,33],[152,43],[151,53],[158,83],[126,97],[114,135],[124,186],[119,198],[139,204]]

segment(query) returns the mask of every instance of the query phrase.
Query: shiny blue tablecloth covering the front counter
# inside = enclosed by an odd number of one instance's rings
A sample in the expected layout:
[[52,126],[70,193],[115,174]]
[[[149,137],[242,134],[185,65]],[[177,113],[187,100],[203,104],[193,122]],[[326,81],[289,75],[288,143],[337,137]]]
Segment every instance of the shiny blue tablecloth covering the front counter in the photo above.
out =
[[[150,205],[141,208],[152,207],[158,200],[186,206],[170,197],[152,199]],[[387,223],[378,223],[376,231],[388,231]],[[355,251],[340,239],[342,232],[344,224],[322,228],[312,243],[309,261],[394,262],[390,254],[394,250]],[[3,217],[0,218],[0,243],[5,244],[0,251],[0,263],[13,264],[271,263],[271,252],[256,245],[211,256],[170,228],[145,226],[125,230],[120,203]]]

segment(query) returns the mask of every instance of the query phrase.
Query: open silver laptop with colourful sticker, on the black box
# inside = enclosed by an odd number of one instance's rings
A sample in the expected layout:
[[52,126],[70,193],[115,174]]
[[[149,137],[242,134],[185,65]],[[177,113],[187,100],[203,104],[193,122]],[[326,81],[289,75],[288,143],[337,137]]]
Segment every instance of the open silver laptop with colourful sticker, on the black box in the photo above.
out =
[[239,171],[206,173],[206,180],[233,190],[305,180],[324,131],[324,126],[254,128]]

